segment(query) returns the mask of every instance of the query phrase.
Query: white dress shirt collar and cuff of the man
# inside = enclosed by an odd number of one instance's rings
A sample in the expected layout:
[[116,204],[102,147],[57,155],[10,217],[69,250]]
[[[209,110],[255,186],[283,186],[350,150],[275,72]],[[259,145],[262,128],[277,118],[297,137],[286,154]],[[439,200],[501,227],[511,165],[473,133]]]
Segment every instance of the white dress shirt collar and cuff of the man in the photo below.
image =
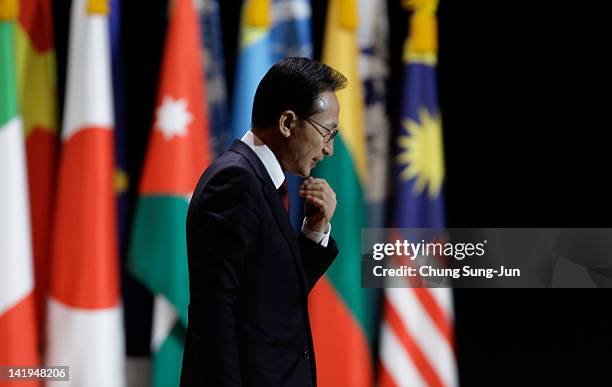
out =
[[[257,138],[255,133],[250,130],[246,132],[244,136],[242,136],[241,141],[253,149],[259,160],[261,160],[262,164],[266,168],[266,171],[268,171],[268,175],[270,175],[270,179],[272,179],[272,183],[274,183],[274,188],[278,190],[278,187],[280,187],[283,184],[283,181],[285,181],[285,174],[283,173],[283,169],[281,168],[280,163],[276,159],[276,156],[272,150],[268,148],[268,146]],[[330,232],[331,223],[327,224],[324,232],[318,232],[311,230],[308,227],[306,218],[304,218],[304,221],[302,222],[302,233],[308,239],[320,244],[323,247],[327,247],[327,244],[329,243]]]

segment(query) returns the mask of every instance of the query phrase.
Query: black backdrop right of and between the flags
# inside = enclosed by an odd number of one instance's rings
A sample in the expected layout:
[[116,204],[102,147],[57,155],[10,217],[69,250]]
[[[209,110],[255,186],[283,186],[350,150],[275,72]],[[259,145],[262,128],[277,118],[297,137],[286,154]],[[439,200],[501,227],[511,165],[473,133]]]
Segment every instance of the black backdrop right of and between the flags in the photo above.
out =
[[[314,0],[315,59],[326,1]],[[389,114],[397,122],[408,12],[387,0]],[[70,1],[54,2],[59,92]],[[222,0],[228,91],[241,1]],[[607,13],[589,3],[442,0],[439,95],[451,227],[610,227]],[[128,170],[139,180],[154,108],[166,0],[122,3]],[[132,200],[136,185],[130,187]],[[147,355],[151,298],[123,280],[127,350]],[[612,385],[612,292],[455,290],[463,387]]]

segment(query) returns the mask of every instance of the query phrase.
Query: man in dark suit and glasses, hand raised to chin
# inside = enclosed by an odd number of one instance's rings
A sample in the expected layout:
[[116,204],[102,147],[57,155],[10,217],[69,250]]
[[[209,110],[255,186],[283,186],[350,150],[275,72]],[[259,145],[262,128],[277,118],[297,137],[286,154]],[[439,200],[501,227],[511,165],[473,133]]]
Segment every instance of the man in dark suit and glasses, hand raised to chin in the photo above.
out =
[[[308,293],[338,254],[336,195],[310,171],[333,153],[346,78],[305,58],[260,82],[252,129],[215,160],[187,215],[189,326],[181,386],[316,386]],[[299,236],[283,172],[305,177]]]

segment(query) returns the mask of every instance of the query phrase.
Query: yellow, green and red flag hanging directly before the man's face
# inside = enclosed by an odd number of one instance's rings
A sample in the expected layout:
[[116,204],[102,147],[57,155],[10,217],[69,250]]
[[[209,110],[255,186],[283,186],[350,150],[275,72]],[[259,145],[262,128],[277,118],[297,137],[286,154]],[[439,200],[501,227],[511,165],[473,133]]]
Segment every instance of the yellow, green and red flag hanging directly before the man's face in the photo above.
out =
[[370,293],[361,288],[361,228],[365,225],[367,181],[363,90],[358,72],[357,8],[354,0],[330,0],[323,62],[344,74],[337,93],[339,133],[334,154],[313,173],[327,179],[341,198],[332,220],[340,253],[310,296],[319,385],[371,386]]

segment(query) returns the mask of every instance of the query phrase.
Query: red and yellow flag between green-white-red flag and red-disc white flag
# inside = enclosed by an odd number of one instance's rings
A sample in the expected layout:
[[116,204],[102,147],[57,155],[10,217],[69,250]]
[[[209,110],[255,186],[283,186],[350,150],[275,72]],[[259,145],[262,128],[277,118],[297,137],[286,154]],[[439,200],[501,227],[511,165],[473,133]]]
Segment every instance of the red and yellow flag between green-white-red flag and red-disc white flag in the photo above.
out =
[[39,339],[44,342],[51,223],[57,170],[57,98],[50,0],[21,1],[15,28],[19,106],[28,160]]

